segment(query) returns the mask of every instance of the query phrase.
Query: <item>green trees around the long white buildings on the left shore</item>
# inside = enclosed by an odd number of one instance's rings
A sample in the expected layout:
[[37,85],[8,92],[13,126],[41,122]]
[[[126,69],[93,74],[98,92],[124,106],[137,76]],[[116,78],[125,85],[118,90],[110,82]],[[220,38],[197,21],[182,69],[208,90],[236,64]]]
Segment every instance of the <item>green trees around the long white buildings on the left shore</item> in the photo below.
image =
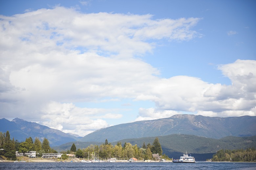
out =
[[10,139],[10,133],[0,132],[0,155],[3,155],[7,158],[16,158],[15,152],[25,154],[26,152],[36,151],[37,156],[42,156],[43,153],[57,153],[54,149],[50,147],[48,139],[44,138],[43,142],[39,138],[35,138],[34,142],[31,137],[26,138],[25,142],[14,141],[14,138]]

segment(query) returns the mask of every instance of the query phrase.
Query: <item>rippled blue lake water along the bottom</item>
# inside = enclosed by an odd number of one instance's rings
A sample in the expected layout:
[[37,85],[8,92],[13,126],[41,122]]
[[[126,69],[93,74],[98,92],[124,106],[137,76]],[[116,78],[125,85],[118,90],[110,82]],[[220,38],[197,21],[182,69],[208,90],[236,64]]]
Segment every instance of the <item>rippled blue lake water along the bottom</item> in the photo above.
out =
[[0,169],[18,169],[18,170],[131,170],[131,169],[147,169],[147,170],[166,170],[166,169],[214,169],[214,170],[255,170],[256,163],[250,162],[196,162],[196,163],[172,163],[172,162],[9,162],[0,163]]

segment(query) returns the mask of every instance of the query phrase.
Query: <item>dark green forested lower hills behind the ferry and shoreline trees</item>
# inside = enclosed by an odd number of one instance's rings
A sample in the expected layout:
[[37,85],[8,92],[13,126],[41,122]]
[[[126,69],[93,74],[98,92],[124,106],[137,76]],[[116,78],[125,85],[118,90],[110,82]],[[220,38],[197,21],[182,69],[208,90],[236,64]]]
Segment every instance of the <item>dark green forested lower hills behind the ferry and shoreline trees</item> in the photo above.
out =
[[[124,139],[121,141],[123,145],[126,143],[131,143],[132,145],[137,144],[142,147],[145,142],[152,144],[156,137],[145,137],[137,139]],[[196,157],[197,161],[205,161],[206,159],[212,158],[212,156],[220,149],[246,149],[256,147],[256,136],[251,137],[234,137],[227,136],[222,139],[212,139],[205,138],[195,135],[185,135],[185,134],[172,134],[166,136],[158,136],[159,142],[161,144],[163,154],[168,155],[169,158],[179,158],[185,151]],[[111,142],[114,146],[117,142]],[[86,148],[93,145],[101,145],[104,142],[69,142],[62,144],[60,146],[53,147],[55,150],[65,151],[70,150],[72,144],[75,143],[76,149]]]

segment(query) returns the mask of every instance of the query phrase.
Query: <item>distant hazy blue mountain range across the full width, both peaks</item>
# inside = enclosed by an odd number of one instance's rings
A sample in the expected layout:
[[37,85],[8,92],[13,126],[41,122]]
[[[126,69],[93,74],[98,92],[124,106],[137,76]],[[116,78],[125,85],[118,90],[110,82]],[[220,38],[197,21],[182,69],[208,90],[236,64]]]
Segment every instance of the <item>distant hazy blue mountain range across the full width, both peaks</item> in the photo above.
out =
[[9,130],[11,138],[19,142],[26,138],[38,137],[41,141],[47,138],[51,146],[67,142],[117,142],[124,139],[187,134],[206,138],[221,139],[227,136],[246,137],[256,135],[256,116],[241,117],[205,117],[195,115],[174,115],[170,118],[151,121],[118,124],[96,130],[83,138],[67,134],[38,123],[15,118],[9,121],[0,119],[0,131]]

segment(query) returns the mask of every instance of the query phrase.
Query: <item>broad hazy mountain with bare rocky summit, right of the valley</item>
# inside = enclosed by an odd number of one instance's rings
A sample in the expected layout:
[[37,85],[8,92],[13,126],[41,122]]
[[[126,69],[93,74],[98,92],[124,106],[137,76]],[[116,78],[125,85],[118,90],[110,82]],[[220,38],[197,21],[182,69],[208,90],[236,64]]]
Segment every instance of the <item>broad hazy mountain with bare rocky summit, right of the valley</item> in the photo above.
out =
[[256,116],[205,117],[174,115],[170,118],[119,124],[96,130],[80,139],[81,142],[115,142],[122,139],[188,134],[220,139],[226,136],[256,135]]

